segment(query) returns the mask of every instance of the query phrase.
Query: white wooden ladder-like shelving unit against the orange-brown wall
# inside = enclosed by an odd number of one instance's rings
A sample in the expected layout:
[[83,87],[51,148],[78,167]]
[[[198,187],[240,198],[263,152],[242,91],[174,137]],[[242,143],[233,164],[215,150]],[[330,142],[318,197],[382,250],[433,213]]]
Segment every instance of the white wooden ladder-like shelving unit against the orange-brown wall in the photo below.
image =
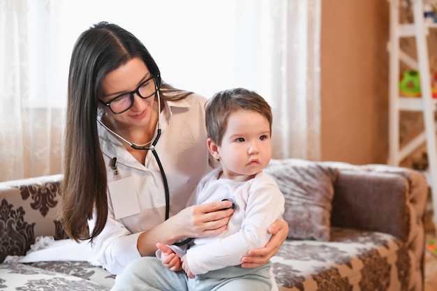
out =
[[[390,53],[390,136],[389,136],[389,164],[399,165],[404,158],[410,155],[417,147],[424,142],[427,144],[427,155],[429,171],[427,173],[428,184],[431,187],[431,194],[434,209],[434,225],[437,227],[437,143],[436,143],[436,122],[434,112],[436,111],[437,100],[432,98],[431,93],[431,69],[429,67],[429,54],[427,36],[429,29],[437,29],[437,24],[429,24],[424,21],[423,0],[409,0],[413,8],[413,22],[402,24],[399,22],[401,9],[400,0],[390,1],[390,40],[388,51]],[[399,45],[401,38],[415,38],[417,58],[413,59],[401,50]],[[436,48],[437,49],[437,48]],[[420,87],[422,96],[420,98],[408,98],[399,96],[399,75],[400,62],[420,73]],[[408,144],[400,147],[399,144],[399,118],[400,111],[423,112],[424,132],[417,135]]]

